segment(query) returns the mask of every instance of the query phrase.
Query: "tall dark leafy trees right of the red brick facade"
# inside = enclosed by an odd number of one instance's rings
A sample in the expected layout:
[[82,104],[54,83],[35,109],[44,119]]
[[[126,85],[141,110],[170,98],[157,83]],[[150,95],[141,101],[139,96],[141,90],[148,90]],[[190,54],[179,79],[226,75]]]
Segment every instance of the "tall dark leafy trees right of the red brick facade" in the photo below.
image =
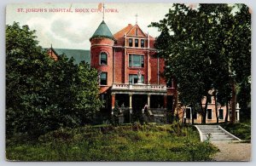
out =
[[[198,112],[203,123],[207,102],[203,109],[201,100],[208,92],[218,92],[216,100],[228,100],[233,87],[235,98],[231,73],[237,71],[239,78],[250,76],[250,15],[245,5],[238,7],[239,12],[232,14],[228,4],[200,4],[197,9],[173,4],[166,18],[151,23],[161,31],[155,47],[166,59],[166,78],[176,77],[184,105],[201,105]],[[237,32],[242,35],[237,37]]]

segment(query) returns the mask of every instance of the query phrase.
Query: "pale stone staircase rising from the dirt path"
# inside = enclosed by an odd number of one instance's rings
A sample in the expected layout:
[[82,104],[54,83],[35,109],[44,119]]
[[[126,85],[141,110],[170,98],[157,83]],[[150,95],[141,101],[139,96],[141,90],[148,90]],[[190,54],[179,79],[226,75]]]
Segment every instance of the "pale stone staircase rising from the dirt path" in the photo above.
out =
[[240,140],[219,125],[195,125],[195,128],[199,131],[201,141],[207,140],[209,134],[211,142]]

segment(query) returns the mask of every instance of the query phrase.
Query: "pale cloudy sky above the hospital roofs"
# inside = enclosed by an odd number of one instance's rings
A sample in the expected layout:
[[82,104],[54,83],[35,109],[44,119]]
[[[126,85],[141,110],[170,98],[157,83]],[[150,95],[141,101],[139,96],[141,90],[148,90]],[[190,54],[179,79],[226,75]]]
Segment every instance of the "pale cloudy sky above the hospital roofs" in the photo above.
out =
[[[102,13],[96,11],[98,4],[10,4],[6,8],[6,24],[12,25],[17,21],[36,30],[39,44],[44,48],[49,48],[52,43],[54,48],[90,49],[89,38],[102,22]],[[163,19],[171,7],[172,3],[105,3],[104,20],[114,34],[128,24],[134,25],[137,14],[138,25],[143,31],[157,37],[160,32],[148,25]],[[73,12],[63,12],[64,9]]]

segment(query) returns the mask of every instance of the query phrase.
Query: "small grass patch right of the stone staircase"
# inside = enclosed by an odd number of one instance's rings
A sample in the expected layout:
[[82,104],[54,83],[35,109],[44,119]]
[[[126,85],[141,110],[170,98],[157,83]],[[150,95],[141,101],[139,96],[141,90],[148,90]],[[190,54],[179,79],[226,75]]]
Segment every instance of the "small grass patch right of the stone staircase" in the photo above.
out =
[[236,135],[241,140],[251,140],[251,122],[241,123],[222,123],[221,126],[229,131],[232,135]]

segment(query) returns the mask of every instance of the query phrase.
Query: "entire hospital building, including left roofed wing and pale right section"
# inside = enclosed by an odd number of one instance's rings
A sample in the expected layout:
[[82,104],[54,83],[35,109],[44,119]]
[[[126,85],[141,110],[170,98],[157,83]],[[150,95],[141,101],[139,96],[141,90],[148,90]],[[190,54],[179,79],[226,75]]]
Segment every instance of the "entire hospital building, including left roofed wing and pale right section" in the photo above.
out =
[[[191,123],[201,123],[201,115],[192,115],[189,106],[177,105],[177,86],[175,80],[163,77],[165,60],[157,56],[151,37],[136,24],[128,24],[112,34],[102,20],[95,33],[90,37],[90,50],[48,49],[55,60],[59,54],[73,57],[75,63],[84,60],[98,71],[100,97],[105,101],[102,112],[110,115],[115,103],[121,107],[120,122],[129,123],[131,113],[148,108],[148,121],[166,120],[166,112],[177,114],[179,119]],[[203,100],[205,103],[205,100]],[[207,106],[207,123],[224,121],[226,106],[215,110],[213,97]],[[239,110],[239,108],[238,108]],[[228,113],[230,120],[230,113]],[[239,120],[239,113],[237,113]]]

